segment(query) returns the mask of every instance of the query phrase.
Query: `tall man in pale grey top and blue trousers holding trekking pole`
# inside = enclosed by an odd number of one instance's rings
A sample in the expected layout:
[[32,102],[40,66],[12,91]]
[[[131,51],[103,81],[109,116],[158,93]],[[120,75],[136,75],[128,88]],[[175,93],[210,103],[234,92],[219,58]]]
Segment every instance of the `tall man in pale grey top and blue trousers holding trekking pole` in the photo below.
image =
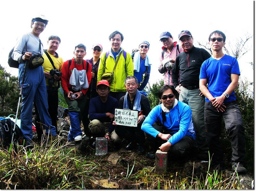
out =
[[50,140],[58,139],[56,129],[54,126],[52,126],[51,117],[48,113],[47,92],[43,66],[30,69],[27,67],[28,64],[26,62],[33,55],[43,55],[43,44],[39,39],[39,35],[44,31],[47,24],[48,20],[43,15],[32,18],[32,31],[21,35],[17,39],[12,53],[13,60],[20,62],[19,82],[20,86],[23,84],[20,128],[25,139],[24,146],[28,146],[30,148],[33,148],[34,146],[32,141],[33,100],[37,105],[43,128],[46,130],[46,136],[49,134]]

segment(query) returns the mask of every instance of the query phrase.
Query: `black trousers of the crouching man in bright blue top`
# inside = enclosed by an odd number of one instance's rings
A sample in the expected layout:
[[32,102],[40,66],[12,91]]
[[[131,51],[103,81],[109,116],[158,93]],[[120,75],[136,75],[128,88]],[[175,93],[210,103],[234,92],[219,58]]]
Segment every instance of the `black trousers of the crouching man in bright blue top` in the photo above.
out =
[[[153,125],[153,127],[163,134],[169,134],[166,130],[162,129],[162,127],[158,125]],[[146,132],[145,132],[145,136],[147,138],[151,152],[156,152],[156,150],[159,150],[159,147],[163,143],[166,143],[166,141],[162,140],[161,138],[159,137],[155,138]],[[169,152],[172,155],[172,158],[175,158],[175,159],[184,158],[194,150],[195,143],[196,142],[192,137],[186,135],[182,139],[180,139],[178,143],[173,144]]]

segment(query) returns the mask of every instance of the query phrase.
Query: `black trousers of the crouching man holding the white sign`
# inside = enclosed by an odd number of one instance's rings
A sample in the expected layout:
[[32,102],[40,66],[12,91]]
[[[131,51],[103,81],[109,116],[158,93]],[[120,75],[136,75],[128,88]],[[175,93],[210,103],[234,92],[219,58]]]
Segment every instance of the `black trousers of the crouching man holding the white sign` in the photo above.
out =
[[141,130],[141,125],[137,127],[128,127],[118,125],[115,128],[116,134],[122,139],[126,139],[129,142],[143,144],[145,142],[144,131]]

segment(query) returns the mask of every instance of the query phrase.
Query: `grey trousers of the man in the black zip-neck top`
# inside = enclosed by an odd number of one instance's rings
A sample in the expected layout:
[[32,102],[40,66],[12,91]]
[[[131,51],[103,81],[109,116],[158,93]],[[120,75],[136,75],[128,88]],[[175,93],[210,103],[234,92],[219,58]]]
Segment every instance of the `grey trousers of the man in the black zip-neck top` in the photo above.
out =
[[199,153],[208,154],[208,144],[204,128],[204,96],[199,96],[198,89],[188,90],[180,86],[179,100],[188,104],[192,111],[192,121],[196,132],[196,143]]

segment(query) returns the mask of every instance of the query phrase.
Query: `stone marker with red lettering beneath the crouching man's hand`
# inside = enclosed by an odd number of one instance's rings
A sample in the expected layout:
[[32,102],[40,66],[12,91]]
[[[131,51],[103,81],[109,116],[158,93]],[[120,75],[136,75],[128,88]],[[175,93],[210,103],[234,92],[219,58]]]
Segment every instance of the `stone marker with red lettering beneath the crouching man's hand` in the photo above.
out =
[[165,171],[167,171],[167,161],[168,161],[167,152],[157,150],[156,151],[156,172],[164,173]]

